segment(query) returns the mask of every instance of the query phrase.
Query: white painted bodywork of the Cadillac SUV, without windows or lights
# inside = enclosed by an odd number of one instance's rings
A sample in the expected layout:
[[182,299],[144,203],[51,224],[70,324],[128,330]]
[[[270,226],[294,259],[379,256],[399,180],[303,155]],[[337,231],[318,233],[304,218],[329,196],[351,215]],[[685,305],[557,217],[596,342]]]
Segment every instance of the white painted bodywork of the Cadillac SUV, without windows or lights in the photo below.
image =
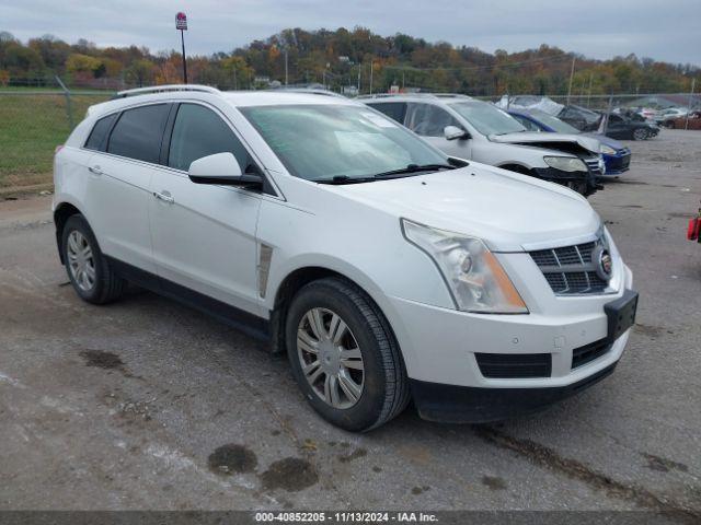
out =
[[[215,109],[264,167],[272,192],[196,185],[182,171],[83,148],[102,116],[153,102],[193,102]],[[377,303],[414,380],[459,386],[562,386],[620,358],[628,332],[605,357],[574,371],[568,364],[574,348],[606,336],[604,305],[632,285],[631,271],[584,198],[476,162],[445,173],[348,186],[298,178],[239,110],[284,104],[359,106],[314,94],[209,91],[143,94],[93,106],[56,155],[54,209],[65,203],[78,208],[105,255],[262,319],[271,318],[279,288],[295,270],[336,271]],[[521,161],[528,152],[532,163],[543,155],[541,149],[482,141],[476,133],[472,143],[486,155],[494,148],[510,148]],[[529,313],[456,310],[435,264],[403,236],[401,219],[483,240]],[[570,246],[601,232],[613,258],[607,292],[554,294],[527,250]],[[267,249],[269,267],[262,264]],[[552,376],[489,380],[480,373],[475,351],[553,352]]]

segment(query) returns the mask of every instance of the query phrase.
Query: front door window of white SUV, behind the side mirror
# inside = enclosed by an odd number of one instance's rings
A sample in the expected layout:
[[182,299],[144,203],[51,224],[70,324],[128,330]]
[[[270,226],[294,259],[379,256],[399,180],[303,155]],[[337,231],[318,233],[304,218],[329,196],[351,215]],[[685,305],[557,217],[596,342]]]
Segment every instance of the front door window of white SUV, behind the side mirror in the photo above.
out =
[[181,104],[173,126],[168,165],[187,171],[193,161],[225,152],[233,154],[244,172],[256,171],[243,144],[215,112],[198,104]]

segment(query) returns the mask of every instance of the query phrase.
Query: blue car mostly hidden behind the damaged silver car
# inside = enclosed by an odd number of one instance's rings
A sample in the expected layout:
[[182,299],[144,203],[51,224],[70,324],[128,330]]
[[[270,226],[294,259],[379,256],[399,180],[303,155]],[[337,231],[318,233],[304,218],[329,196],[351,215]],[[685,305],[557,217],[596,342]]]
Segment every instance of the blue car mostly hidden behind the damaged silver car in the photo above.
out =
[[[581,131],[558,117],[541,112],[540,109],[509,109],[508,114],[521,122],[529,131],[544,131],[550,133],[577,135]],[[600,133],[586,133],[601,143],[601,154],[606,170],[604,175],[620,175],[629,170],[631,163],[631,150],[619,141]]]

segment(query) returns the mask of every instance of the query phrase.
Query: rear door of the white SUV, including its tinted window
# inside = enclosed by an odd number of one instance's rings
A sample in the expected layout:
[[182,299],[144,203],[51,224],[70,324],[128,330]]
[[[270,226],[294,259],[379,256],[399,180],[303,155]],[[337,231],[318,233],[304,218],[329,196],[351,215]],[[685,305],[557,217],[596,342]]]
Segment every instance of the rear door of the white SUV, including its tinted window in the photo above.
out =
[[100,247],[105,255],[150,272],[156,271],[148,218],[150,184],[170,108],[150,104],[106,117],[85,143],[95,153],[89,162],[84,201]]

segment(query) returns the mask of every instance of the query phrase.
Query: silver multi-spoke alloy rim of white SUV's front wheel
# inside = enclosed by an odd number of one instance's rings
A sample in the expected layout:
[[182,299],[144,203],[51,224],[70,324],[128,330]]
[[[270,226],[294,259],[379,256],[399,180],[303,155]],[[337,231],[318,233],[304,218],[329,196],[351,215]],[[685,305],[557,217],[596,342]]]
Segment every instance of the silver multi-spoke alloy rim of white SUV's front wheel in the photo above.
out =
[[326,405],[347,409],[358,402],[365,385],[363,354],[338,314],[308,311],[297,328],[297,354],[304,378]]

